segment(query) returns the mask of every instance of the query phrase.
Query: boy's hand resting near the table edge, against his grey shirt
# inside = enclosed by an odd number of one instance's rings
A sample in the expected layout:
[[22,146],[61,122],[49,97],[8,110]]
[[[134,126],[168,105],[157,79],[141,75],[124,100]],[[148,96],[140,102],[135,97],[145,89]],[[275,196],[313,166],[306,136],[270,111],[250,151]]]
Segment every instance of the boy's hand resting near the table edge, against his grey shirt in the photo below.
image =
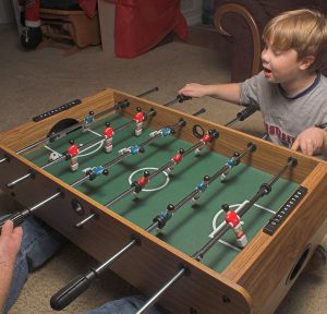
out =
[[319,128],[306,129],[298,135],[292,149],[310,156],[323,153],[324,147],[327,146],[326,134],[326,131]]

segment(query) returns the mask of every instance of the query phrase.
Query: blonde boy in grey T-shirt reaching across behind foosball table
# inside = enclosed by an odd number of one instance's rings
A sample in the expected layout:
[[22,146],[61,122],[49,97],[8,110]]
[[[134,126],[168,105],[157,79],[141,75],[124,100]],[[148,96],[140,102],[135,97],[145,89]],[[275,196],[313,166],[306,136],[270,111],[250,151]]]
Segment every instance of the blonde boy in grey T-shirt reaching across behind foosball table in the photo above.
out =
[[264,70],[243,83],[186,84],[179,94],[255,105],[270,140],[303,154],[327,157],[327,20],[307,9],[283,12],[263,33]]

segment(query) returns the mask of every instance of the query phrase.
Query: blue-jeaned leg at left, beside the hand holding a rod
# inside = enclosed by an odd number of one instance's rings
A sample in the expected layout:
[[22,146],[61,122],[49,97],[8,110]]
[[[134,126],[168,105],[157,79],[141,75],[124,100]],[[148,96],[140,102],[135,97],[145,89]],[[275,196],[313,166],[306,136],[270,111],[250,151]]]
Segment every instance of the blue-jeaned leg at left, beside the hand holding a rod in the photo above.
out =
[[28,273],[45,264],[63,244],[64,238],[50,227],[29,217],[22,224],[23,240],[17,255],[13,280],[3,307],[7,314],[20,295]]

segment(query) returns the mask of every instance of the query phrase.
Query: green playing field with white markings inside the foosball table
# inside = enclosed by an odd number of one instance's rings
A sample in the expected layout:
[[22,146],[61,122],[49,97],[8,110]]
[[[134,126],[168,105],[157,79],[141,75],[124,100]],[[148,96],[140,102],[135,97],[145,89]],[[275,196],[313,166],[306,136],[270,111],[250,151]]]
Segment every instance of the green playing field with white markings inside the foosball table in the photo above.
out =
[[[159,119],[156,117],[155,119]],[[119,114],[110,117],[113,129],[129,122]],[[178,122],[178,121],[177,121]],[[48,161],[51,150],[63,153],[69,146],[69,140],[74,140],[83,149],[83,145],[99,138],[105,129],[105,120],[96,121],[90,131],[74,131],[68,136],[51,143],[49,146],[28,154],[26,158],[37,166],[44,166]],[[118,150],[123,147],[134,146],[149,138],[150,128],[145,128],[141,136],[134,135],[134,124],[117,132],[113,136],[113,150],[105,153],[104,143],[95,145],[78,157],[78,170],[72,172],[70,161],[63,160],[47,168],[51,174],[62,181],[72,184],[84,177],[84,169],[105,165],[117,158]],[[216,141],[219,141],[216,140]],[[107,204],[116,196],[131,186],[131,182],[140,179],[144,170],[154,172],[166,165],[177,154],[179,148],[189,148],[192,144],[177,140],[173,136],[158,137],[152,144],[145,146],[144,154],[130,155],[121,162],[110,167],[109,176],[99,176],[93,181],[77,185],[75,189],[85,193],[100,204]],[[246,147],[240,147],[240,153]],[[256,154],[256,153],[253,153]],[[205,147],[199,154],[193,153],[185,156],[181,164],[177,165],[171,173],[161,172],[150,180],[145,189],[136,197],[130,193],[113,206],[111,210],[120,214],[135,225],[147,228],[153,218],[160,212],[165,212],[168,204],[177,205],[187,196],[201,183],[204,176],[213,176],[227,162],[228,158],[216,153],[208,152]],[[287,162],[287,160],[286,160]],[[222,204],[229,204],[233,209],[238,204],[250,200],[262,183],[267,182],[272,176],[258,171],[252,167],[240,164],[231,169],[227,180],[221,182],[218,178],[207,190],[202,193],[195,205],[187,202],[178,209],[162,230],[157,230],[157,237],[168,242],[182,252],[192,255],[201,249],[213,235],[215,229],[223,221],[223,215],[219,214]],[[274,212],[289,198],[296,190],[298,184],[280,179],[272,185],[272,191],[259,200],[242,218],[243,230],[249,241],[262,232],[262,228],[271,218]],[[110,210],[108,209],[108,210]],[[203,263],[217,271],[223,270],[227,265],[240,252],[234,233],[229,230],[203,259]]]

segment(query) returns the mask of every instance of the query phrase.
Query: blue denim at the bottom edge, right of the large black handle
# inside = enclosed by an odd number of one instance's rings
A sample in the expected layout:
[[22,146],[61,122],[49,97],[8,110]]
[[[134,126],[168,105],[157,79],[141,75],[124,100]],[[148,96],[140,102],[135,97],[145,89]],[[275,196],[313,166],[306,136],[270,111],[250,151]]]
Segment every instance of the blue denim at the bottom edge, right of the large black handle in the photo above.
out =
[[[135,314],[146,302],[143,295],[126,297],[119,300],[110,301],[86,314]],[[150,307],[147,314],[165,314],[168,312],[158,306]]]

